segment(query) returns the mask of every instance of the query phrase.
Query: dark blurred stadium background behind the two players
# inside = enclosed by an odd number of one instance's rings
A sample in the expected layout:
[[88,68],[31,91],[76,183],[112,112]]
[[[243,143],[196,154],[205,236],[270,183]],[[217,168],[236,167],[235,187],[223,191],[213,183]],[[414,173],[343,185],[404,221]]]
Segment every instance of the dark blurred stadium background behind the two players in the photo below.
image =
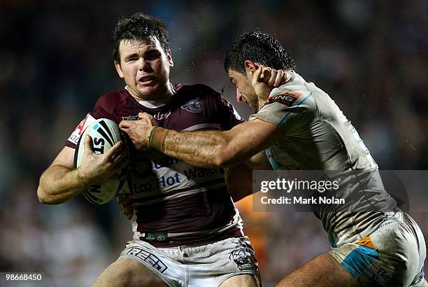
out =
[[[36,188],[97,97],[124,87],[110,35],[136,11],[168,23],[173,83],[204,83],[234,102],[224,52],[259,29],[330,94],[381,169],[427,169],[428,1],[0,0],[0,272],[89,286],[131,237],[115,202],[47,206]],[[328,250],[312,214],[253,213],[250,198],[238,207],[264,286]],[[412,215],[428,237],[428,215]]]

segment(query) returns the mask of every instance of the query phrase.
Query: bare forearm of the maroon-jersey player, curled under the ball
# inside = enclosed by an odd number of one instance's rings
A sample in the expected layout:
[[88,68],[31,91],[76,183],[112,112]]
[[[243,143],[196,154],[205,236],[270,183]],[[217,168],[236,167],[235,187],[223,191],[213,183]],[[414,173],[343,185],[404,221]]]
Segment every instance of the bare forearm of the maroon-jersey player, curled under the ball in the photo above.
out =
[[37,189],[38,200],[44,204],[60,204],[78,195],[87,183],[78,175],[78,169],[52,165],[43,172]]

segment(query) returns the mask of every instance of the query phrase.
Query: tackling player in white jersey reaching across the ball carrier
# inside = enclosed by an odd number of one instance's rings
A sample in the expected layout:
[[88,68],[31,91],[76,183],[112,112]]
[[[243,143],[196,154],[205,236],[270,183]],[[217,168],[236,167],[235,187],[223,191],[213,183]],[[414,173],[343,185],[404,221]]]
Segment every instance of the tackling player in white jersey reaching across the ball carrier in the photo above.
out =
[[[237,99],[255,110],[247,123],[226,132],[183,133],[154,127],[144,114],[142,120],[120,127],[138,147],[201,167],[246,162],[260,169],[267,155],[273,169],[377,172],[350,121],[328,94],[294,71],[294,61],[274,38],[254,31],[244,34],[229,48],[224,68],[236,85]],[[286,83],[269,87],[283,77]],[[243,169],[236,176],[250,181],[251,174]],[[373,183],[370,191],[379,207],[390,212],[319,212],[331,251],[285,276],[278,286],[428,286],[422,232],[381,185]],[[229,190],[234,188],[239,186]],[[352,192],[343,197],[352,197]]]

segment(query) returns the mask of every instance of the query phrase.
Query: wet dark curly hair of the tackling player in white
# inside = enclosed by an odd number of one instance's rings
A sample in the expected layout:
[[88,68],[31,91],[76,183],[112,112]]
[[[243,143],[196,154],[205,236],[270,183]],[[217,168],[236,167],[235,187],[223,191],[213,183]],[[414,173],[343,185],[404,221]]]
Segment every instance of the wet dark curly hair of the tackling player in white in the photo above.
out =
[[250,31],[234,41],[224,57],[224,70],[245,75],[245,60],[257,62],[273,69],[296,69],[294,59],[283,46],[268,34]]

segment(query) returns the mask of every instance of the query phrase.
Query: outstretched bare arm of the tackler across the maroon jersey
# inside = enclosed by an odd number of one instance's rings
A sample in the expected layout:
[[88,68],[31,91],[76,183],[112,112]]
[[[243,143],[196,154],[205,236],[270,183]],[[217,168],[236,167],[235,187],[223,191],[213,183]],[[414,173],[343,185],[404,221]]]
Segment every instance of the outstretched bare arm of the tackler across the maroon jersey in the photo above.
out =
[[263,120],[236,125],[225,132],[176,132],[153,127],[150,116],[141,120],[124,120],[120,128],[127,132],[136,148],[149,146],[197,167],[230,167],[278,141],[281,132]]

